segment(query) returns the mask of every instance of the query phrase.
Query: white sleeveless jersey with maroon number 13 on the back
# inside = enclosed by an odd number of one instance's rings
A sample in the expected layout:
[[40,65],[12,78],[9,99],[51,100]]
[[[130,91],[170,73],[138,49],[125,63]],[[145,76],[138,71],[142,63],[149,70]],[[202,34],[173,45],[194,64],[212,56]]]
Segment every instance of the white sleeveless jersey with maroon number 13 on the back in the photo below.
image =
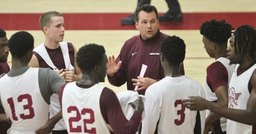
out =
[[5,75],[1,82],[5,83],[1,85],[1,102],[12,122],[10,134],[35,134],[36,129],[46,124],[49,113],[38,84],[38,68],[30,67],[15,77]]

